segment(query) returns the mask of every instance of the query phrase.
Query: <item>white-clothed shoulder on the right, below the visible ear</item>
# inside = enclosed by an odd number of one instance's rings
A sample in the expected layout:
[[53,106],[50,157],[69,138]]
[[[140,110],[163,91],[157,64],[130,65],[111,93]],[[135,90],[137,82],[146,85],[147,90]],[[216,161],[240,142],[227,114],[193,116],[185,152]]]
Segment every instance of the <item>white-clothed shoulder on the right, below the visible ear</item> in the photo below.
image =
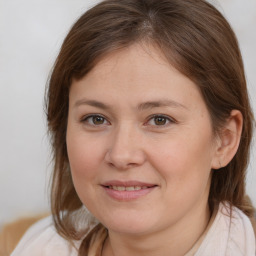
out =
[[196,256],[255,256],[255,235],[249,218],[238,208],[220,203],[218,213]]

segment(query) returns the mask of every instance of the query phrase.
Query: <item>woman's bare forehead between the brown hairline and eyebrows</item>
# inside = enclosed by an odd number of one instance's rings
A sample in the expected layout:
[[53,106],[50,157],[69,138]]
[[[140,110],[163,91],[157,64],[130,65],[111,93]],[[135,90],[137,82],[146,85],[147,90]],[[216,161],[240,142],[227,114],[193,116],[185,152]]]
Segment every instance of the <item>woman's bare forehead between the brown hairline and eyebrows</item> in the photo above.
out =
[[176,70],[157,48],[145,44],[110,53],[86,76],[73,81],[70,94],[113,102],[130,99],[134,104],[164,98],[188,107],[203,101],[192,80]]

